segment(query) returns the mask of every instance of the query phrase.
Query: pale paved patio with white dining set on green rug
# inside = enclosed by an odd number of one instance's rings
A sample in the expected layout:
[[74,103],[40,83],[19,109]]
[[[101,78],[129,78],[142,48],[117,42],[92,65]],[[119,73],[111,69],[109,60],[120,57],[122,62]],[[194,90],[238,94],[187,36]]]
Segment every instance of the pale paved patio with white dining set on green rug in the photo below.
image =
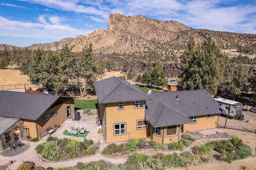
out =
[[[91,139],[94,143],[103,143],[102,134],[98,133],[96,124],[97,115],[85,115],[81,113],[81,120],[72,121],[71,119],[66,120],[60,125],[54,133],[51,134],[52,137],[57,138],[69,138],[78,141],[83,141],[84,138]],[[85,128],[84,133],[79,133],[81,128]],[[77,134],[69,134],[68,129],[71,131],[76,131]],[[46,135],[42,140],[46,141],[49,135]]]

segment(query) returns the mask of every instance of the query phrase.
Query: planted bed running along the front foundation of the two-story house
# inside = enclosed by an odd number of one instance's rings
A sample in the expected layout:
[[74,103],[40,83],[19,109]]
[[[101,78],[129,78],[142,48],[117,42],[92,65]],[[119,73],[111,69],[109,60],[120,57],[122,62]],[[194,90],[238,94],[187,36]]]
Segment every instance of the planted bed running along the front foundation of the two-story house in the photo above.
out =
[[[128,143],[123,143],[120,145],[116,145],[112,143],[108,145],[101,152],[102,155],[111,155],[111,154],[129,154],[130,152],[134,152],[137,149],[162,149],[162,150],[184,150],[186,147],[190,146],[191,143],[195,140],[189,134],[186,135],[187,139],[181,139],[177,142],[172,142],[167,145],[163,145],[154,141],[147,141],[144,139],[132,139]],[[188,140],[190,139],[190,140]]]

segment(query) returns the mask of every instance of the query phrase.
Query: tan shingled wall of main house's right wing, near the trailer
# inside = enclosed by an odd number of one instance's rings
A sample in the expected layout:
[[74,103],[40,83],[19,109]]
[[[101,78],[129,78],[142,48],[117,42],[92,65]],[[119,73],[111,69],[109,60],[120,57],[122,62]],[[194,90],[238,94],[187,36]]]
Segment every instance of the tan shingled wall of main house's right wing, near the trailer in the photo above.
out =
[[183,125],[183,132],[216,128],[217,121],[218,121],[218,115],[214,115],[213,118],[208,118],[207,115],[197,116],[196,124]]

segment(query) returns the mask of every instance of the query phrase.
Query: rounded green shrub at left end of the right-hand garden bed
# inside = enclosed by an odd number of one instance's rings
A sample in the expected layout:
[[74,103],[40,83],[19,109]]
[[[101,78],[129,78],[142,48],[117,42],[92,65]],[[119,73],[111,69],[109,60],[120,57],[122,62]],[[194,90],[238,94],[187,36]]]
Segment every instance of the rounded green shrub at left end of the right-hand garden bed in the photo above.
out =
[[210,144],[202,144],[202,145],[198,145],[195,146],[193,148],[193,153],[197,156],[199,156],[200,158],[205,158],[210,156],[210,154],[212,154],[214,145]]

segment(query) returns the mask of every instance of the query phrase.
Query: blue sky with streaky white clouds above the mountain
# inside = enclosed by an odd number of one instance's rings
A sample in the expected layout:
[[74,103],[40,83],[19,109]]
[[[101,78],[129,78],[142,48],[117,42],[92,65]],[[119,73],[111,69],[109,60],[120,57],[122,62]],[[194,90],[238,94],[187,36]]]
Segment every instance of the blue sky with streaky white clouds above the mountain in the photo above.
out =
[[256,33],[256,0],[0,0],[0,44],[52,43],[107,29],[111,13]]

